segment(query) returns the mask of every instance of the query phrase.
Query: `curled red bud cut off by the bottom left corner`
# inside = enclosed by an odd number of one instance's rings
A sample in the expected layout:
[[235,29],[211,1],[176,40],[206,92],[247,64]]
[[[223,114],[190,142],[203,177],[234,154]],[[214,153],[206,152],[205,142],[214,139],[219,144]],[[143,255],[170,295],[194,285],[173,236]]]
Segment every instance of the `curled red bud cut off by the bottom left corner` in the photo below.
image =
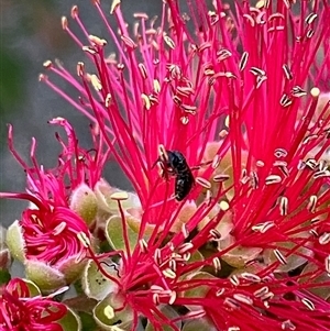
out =
[[14,278],[1,288],[0,326],[3,331],[62,331],[58,321],[67,308],[47,297],[31,297],[26,283]]

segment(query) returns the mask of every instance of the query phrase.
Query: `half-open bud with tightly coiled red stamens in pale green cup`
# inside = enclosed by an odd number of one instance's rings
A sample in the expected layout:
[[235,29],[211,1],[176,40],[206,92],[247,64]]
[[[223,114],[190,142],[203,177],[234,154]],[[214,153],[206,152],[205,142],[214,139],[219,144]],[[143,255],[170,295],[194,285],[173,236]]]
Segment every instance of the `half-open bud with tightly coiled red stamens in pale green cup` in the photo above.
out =
[[78,236],[90,236],[85,221],[67,207],[51,209],[28,194],[3,196],[28,199],[36,207],[25,209],[7,233],[9,250],[24,263],[28,277],[44,291],[76,280],[87,253]]

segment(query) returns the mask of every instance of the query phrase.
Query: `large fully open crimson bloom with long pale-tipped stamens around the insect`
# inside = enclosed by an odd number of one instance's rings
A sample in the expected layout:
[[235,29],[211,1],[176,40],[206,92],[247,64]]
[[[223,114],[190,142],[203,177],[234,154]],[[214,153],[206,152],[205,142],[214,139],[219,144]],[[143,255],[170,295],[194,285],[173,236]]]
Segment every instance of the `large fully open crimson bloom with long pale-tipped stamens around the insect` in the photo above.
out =
[[[105,298],[98,319],[116,323],[124,311],[132,330],[140,316],[155,330],[197,317],[210,330],[329,330],[330,305],[315,294],[330,285],[319,246],[330,241],[329,102],[319,109],[330,88],[329,3],[235,1],[233,13],[220,0],[210,10],[187,1],[183,14],[178,2],[164,1],[160,25],[136,14],[130,34],[113,1],[117,35],[94,1],[118,58],[74,7],[86,40],[65,18],[63,27],[95,68],[79,63],[76,79],[45,66],[81,102],[41,76],[97,122],[141,200],[136,225],[127,197],[112,196],[108,255],[121,258],[106,268],[95,257],[114,284],[108,297],[91,295]],[[91,269],[88,294],[101,287]]]

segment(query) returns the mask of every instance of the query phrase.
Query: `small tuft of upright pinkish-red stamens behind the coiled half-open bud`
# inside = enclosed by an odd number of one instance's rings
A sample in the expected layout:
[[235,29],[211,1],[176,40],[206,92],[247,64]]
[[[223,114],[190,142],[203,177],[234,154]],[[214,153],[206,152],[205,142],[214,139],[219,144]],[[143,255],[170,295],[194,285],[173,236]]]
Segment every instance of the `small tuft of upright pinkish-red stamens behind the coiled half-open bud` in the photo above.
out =
[[9,147],[26,173],[29,192],[47,201],[50,206],[68,207],[70,195],[77,187],[86,184],[92,189],[100,180],[105,163],[109,157],[109,148],[105,145],[102,135],[96,126],[91,128],[94,147],[86,151],[78,145],[75,131],[65,119],[56,118],[50,123],[62,126],[67,135],[67,142],[65,142],[56,133],[63,151],[58,156],[58,165],[54,169],[45,169],[38,165],[35,157],[36,141],[34,139],[32,139],[30,152],[32,166],[22,159],[13,146],[11,125],[9,126]]

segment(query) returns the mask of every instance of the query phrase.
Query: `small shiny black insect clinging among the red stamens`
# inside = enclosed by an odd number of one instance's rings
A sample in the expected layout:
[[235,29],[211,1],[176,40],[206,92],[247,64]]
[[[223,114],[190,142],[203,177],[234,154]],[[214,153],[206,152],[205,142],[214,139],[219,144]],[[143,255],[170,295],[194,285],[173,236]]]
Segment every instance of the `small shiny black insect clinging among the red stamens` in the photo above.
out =
[[157,162],[161,163],[163,177],[168,179],[168,175],[175,176],[175,198],[177,201],[182,201],[190,192],[195,185],[195,178],[183,153],[166,151],[166,154],[160,156]]

